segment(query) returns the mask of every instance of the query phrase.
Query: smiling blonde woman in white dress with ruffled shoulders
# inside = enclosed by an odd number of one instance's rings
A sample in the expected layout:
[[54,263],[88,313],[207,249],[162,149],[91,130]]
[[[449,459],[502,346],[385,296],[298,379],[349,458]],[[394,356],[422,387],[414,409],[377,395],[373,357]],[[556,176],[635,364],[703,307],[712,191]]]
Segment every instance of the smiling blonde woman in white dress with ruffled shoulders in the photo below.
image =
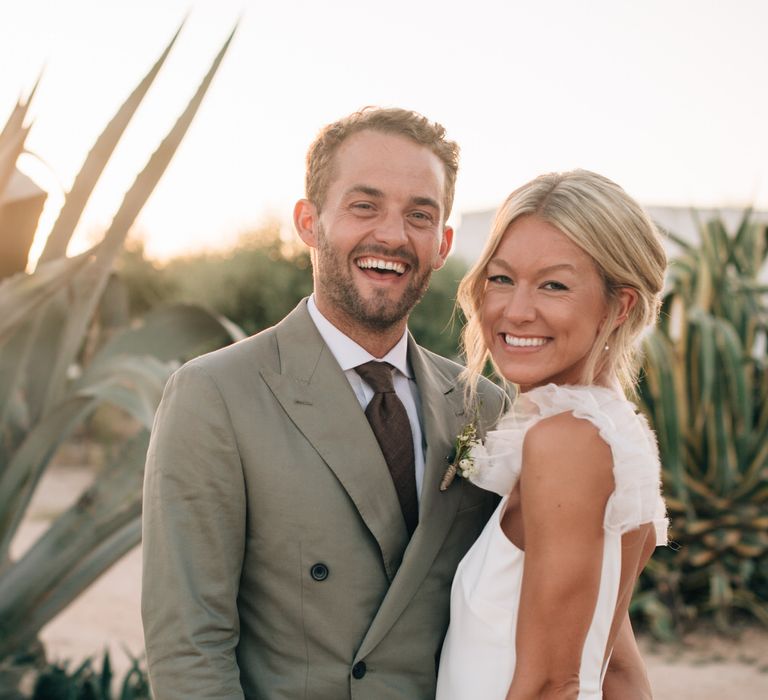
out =
[[600,175],[541,176],[499,210],[459,288],[466,373],[474,386],[490,358],[519,394],[461,465],[502,500],[456,572],[437,700],[650,697],[627,611],[667,522],[655,438],[624,392],[665,266]]

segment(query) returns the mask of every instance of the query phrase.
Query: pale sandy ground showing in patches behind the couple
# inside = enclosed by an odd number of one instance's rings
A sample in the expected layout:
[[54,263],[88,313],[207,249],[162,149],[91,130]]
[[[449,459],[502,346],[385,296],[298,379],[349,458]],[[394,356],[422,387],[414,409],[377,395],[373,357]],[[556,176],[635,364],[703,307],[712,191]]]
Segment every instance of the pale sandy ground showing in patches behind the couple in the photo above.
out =
[[[78,467],[50,469],[35,494],[27,520],[14,542],[18,557],[47,523],[74,501],[91,472]],[[141,553],[137,548],[96,581],[42,632],[50,659],[76,663],[110,649],[118,670],[129,665],[125,650],[143,649],[139,591]],[[768,630],[749,628],[737,640],[702,633],[681,645],[641,639],[656,700],[766,700]]]

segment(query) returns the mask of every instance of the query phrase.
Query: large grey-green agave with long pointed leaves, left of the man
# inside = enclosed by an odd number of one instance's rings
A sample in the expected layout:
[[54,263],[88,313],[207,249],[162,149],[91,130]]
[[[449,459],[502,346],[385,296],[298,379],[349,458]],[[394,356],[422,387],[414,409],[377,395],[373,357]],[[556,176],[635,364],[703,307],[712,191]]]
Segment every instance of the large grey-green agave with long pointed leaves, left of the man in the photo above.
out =
[[[180,360],[238,334],[197,306],[159,308],[131,320],[125,306],[115,303],[120,281],[112,273],[115,256],[189,128],[231,35],[126,193],[103,239],[82,255],[66,256],[96,181],[177,36],[95,142],[35,272],[0,284],[0,667],[12,665],[47,622],[139,543],[144,457],[163,385]],[[27,104],[19,101],[0,135],[0,194],[24,148]],[[9,235],[1,224],[0,232]],[[130,415],[135,431],[77,503],[13,561],[11,543],[52,457],[104,405]]]

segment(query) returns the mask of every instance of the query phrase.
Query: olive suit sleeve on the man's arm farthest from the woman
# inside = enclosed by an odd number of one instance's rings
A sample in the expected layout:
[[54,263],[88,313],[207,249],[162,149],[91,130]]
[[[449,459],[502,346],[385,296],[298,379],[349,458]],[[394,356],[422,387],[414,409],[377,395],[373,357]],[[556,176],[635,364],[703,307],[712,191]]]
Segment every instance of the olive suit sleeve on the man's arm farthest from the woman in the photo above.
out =
[[245,503],[227,406],[205,370],[186,365],[163,394],[144,478],[142,619],[156,700],[243,698]]

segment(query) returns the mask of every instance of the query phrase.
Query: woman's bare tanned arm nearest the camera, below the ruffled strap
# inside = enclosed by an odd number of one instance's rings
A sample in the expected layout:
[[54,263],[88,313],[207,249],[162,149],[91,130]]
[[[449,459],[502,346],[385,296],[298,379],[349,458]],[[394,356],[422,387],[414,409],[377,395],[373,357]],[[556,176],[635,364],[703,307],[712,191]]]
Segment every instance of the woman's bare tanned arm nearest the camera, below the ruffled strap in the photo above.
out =
[[525,567],[507,700],[577,698],[613,488],[610,448],[588,421],[564,413],[526,434],[520,477]]

